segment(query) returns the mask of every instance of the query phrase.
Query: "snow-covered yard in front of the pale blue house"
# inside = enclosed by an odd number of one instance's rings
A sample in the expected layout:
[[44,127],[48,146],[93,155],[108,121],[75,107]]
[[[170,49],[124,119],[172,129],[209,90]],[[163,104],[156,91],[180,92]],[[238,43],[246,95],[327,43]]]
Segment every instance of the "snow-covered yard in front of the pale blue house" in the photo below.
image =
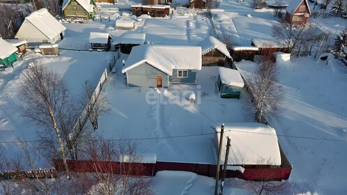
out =
[[[242,100],[219,97],[217,67],[203,67],[197,73],[197,85],[126,88],[121,73],[121,61],[126,57],[121,56],[117,73],[110,75],[104,86],[111,103],[111,111],[99,121],[98,132],[104,137],[139,139],[139,152],[156,153],[158,161],[215,164],[213,127],[221,121],[254,121]],[[192,91],[196,94],[194,104],[187,100]]]

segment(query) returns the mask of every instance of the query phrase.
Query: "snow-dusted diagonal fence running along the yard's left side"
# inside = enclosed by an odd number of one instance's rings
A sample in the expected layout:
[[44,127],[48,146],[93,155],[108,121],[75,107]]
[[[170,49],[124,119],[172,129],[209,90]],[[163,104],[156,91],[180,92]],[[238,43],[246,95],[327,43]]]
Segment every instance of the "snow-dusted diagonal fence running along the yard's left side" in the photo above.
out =
[[[118,56],[117,56],[118,59]],[[109,61],[107,67],[105,68],[105,70],[102,72],[102,75],[98,81],[98,84],[95,87],[95,90],[93,92],[93,95],[91,95],[91,98],[95,98],[98,97],[98,95],[100,94],[100,91],[102,90],[102,86],[104,86],[107,77],[109,76],[109,72],[111,72],[112,68],[114,68],[114,65],[116,64],[116,56],[114,56],[113,59],[111,59],[111,61]],[[92,100],[92,99],[91,99]],[[91,100],[89,100],[89,102],[91,102]],[[89,104],[89,103],[88,103]],[[74,132],[76,132],[76,130],[81,130],[82,127],[84,126],[84,124],[86,123],[86,120],[88,119],[88,114],[87,114],[87,107],[88,104],[86,105],[86,107],[84,107],[84,110],[82,111],[81,116],[79,116],[77,123],[75,124],[75,126],[72,129],[72,132],[70,134],[70,136],[72,136],[72,134]],[[77,131],[79,132],[79,131]],[[73,136],[72,136],[73,137]]]

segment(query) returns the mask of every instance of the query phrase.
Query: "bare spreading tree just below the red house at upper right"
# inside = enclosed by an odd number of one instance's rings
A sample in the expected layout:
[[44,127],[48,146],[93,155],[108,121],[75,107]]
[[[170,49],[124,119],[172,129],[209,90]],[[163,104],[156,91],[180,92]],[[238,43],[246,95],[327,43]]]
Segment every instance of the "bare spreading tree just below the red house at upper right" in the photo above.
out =
[[[293,25],[287,22],[275,24],[272,27],[273,35],[282,40],[288,52],[292,53],[295,48],[304,42],[310,42],[314,37],[314,31],[309,25]],[[308,39],[307,39],[308,38]]]

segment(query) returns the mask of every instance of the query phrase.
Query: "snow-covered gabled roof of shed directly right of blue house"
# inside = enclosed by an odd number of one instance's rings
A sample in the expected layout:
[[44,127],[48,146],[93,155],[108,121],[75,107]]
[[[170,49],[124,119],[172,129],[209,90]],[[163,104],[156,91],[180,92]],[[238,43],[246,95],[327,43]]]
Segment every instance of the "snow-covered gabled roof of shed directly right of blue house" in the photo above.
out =
[[226,45],[220,40],[217,40],[217,38],[214,38],[213,36],[208,36],[204,40],[201,40],[201,42],[199,42],[197,46],[201,47],[202,55],[207,54],[212,49],[217,49],[219,52],[222,52],[222,54],[224,54],[229,59],[231,59],[229,51],[228,49],[226,49]]

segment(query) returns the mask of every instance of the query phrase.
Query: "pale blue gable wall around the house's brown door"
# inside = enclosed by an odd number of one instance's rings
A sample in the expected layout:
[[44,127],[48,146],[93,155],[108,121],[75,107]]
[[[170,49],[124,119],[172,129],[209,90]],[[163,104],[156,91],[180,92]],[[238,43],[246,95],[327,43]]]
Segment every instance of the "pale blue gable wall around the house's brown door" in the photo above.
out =
[[157,87],[157,75],[162,75],[162,87],[169,86],[169,76],[148,63],[137,65],[127,72],[129,87]]

